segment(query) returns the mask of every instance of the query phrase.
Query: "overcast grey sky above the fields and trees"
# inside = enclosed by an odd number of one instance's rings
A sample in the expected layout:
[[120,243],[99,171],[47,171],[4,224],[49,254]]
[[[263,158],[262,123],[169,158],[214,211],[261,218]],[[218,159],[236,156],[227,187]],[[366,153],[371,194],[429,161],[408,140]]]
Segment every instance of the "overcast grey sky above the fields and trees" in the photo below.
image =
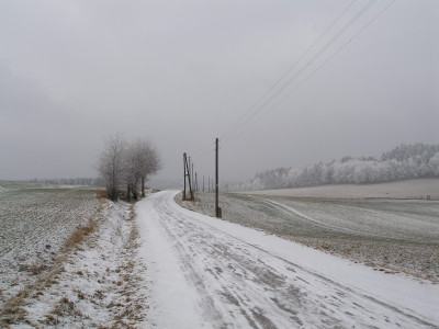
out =
[[439,143],[438,91],[437,0],[0,2],[0,179],[94,177],[115,132],[159,179],[213,175],[215,137],[230,181],[379,156]]

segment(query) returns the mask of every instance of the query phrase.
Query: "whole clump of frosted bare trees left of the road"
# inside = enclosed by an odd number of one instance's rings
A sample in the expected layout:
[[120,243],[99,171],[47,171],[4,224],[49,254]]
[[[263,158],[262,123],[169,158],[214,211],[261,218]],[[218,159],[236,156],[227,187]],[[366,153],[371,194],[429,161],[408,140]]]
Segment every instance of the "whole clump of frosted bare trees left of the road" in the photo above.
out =
[[120,191],[126,186],[126,196],[131,201],[138,198],[139,188],[145,196],[147,178],[157,173],[161,166],[160,155],[150,141],[127,143],[122,134],[115,134],[105,140],[97,169],[110,200],[117,201]]

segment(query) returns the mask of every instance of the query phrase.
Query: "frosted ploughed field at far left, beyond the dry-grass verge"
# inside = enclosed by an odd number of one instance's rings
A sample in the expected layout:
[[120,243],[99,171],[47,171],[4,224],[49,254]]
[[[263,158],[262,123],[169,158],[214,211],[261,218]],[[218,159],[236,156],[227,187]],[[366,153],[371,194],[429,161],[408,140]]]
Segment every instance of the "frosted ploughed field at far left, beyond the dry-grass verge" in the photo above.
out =
[[47,269],[99,205],[94,190],[0,182],[0,308]]

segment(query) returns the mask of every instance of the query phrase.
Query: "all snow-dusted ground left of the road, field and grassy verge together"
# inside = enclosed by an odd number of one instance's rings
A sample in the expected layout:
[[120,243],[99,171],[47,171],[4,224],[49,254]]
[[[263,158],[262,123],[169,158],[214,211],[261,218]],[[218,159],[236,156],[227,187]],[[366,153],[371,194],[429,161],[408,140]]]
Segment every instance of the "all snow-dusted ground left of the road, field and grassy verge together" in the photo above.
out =
[[8,234],[0,328],[147,327],[146,265],[132,205],[98,200],[87,186],[1,186]]

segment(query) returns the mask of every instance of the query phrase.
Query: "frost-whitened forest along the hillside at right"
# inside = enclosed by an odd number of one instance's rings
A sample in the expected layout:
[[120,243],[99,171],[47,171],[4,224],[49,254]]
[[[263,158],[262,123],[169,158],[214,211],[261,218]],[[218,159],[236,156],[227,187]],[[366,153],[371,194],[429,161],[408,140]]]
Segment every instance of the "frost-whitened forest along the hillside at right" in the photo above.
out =
[[439,177],[439,145],[401,145],[381,158],[350,156],[304,168],[278,168],[257,173],[244,183],[225,184],[225,191],[255,191],[370,184]]

